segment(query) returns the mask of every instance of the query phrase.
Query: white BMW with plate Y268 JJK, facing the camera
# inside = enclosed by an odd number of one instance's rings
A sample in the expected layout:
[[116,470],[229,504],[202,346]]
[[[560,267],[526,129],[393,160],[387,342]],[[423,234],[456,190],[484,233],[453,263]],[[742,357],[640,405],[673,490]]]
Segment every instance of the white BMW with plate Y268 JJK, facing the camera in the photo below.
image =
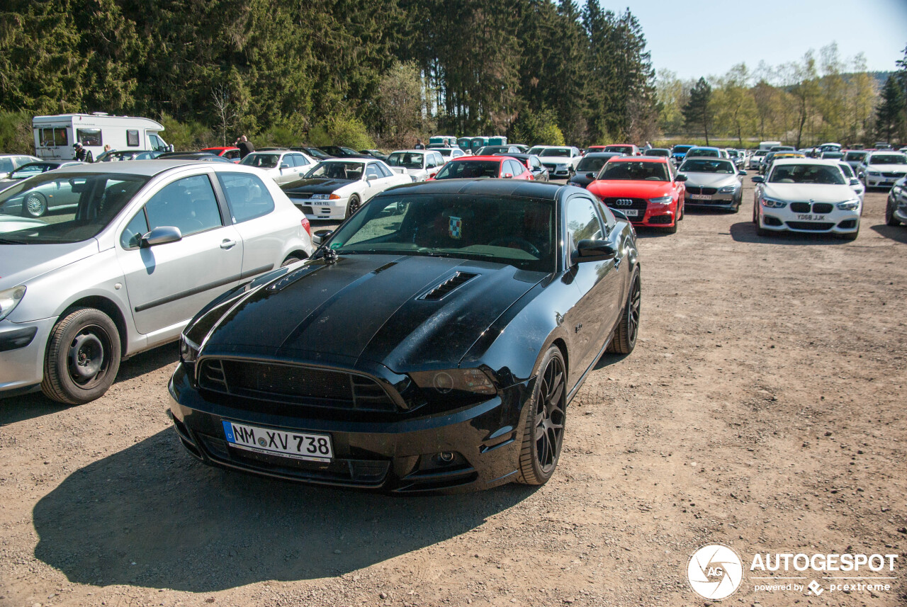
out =
[[856,239],[863,203],[838,160],[779,159],[765,178],[756,176],[753,182],[759,236],[787,231]]

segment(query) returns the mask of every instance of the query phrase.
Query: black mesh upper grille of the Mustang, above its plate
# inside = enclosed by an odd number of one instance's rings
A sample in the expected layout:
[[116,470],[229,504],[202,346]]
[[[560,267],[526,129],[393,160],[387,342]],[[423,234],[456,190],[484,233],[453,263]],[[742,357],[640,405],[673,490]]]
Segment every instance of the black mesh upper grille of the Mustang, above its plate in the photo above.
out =
[[205,390],[256,400],[331,409],[397,409],[394,400],[377,381],[355,373],[317,367],[206,359],[201,363],[199,383]]

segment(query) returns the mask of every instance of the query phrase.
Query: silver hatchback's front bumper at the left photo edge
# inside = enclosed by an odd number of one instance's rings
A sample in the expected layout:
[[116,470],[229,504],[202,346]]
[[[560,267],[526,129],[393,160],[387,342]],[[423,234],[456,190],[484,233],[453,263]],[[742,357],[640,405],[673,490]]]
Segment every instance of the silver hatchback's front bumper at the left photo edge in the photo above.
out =
[[53,318],[30,323],[0,321],[0,396],[19,393],[44,378],[44,349]]

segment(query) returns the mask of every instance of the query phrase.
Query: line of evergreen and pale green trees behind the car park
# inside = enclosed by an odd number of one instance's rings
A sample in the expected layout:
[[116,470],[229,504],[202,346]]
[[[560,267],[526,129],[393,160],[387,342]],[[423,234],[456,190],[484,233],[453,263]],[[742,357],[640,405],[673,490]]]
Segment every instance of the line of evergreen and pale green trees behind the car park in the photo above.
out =
[[[583,146],[695,127],[678,123],[693,83],[656,78],[639,21],[598,0],[7,0],[0,45],[2,151],[31,145],[34,115],[92,111],[161,120],[178,149],[243,133],[258,145],[395,148],[437,132]],[[874,128],[872,78],[836,49],[762,67],[706,82],[714,132]]]

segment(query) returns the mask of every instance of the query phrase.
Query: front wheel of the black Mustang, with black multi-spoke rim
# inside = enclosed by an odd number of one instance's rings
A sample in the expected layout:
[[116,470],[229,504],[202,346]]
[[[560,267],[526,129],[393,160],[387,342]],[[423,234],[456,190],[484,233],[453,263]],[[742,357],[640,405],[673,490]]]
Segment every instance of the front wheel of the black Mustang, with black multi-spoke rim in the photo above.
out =
[[533,375],[517,480],[523,485],[544,485],[561,458],[567,412],[567,366],[560,348],[550,346]]

